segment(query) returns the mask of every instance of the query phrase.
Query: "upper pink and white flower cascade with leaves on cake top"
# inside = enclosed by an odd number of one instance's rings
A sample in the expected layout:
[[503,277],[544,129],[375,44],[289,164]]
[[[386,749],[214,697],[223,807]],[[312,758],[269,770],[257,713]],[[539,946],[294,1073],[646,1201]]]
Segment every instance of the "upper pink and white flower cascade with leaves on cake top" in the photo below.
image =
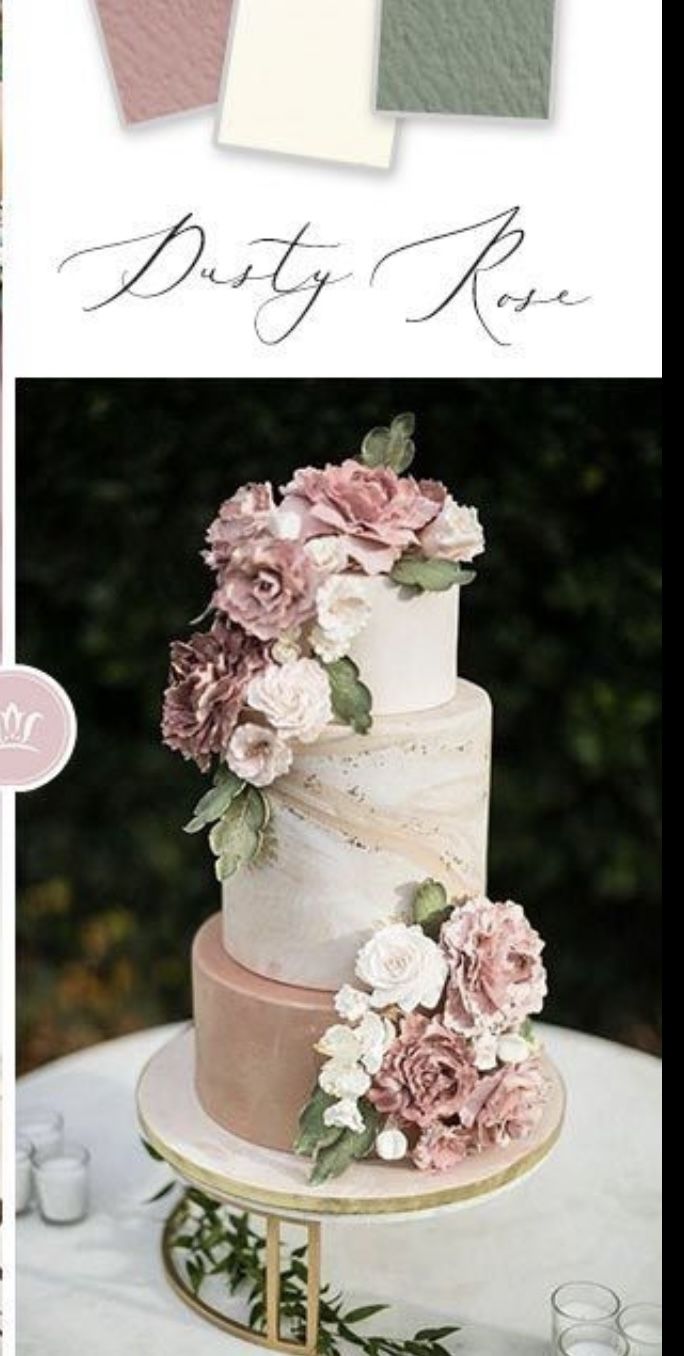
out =
[[350,658],[385,576],[406,595],[474,578],[484,549],[475,509],[406,475],[414,418],[365,437],[358,458],[242,487],[208,532],[210,625],[171,647],[163,738],[212,774],[187,833],[209,830],[218,880],[269,841],[266,788],[327,725],[372,727],[373,694]]

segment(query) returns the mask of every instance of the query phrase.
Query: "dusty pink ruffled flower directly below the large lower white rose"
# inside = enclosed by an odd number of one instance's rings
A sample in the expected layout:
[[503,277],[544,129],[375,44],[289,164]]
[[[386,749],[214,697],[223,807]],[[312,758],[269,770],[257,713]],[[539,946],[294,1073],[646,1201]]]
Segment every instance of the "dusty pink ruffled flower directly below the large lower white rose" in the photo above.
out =
[[411,1013],[368,1096],[384,1115],[425,1128],[456,1116],[476,1082],[467,1043],[446,1031],[441,1018]]

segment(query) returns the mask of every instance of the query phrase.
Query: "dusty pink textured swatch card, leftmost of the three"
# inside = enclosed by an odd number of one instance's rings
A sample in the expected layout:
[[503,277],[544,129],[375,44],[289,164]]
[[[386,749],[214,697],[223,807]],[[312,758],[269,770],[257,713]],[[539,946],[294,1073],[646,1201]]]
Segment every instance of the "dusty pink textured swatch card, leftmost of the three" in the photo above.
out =
[[95,0],[126,122],[216,103],[231,0]]

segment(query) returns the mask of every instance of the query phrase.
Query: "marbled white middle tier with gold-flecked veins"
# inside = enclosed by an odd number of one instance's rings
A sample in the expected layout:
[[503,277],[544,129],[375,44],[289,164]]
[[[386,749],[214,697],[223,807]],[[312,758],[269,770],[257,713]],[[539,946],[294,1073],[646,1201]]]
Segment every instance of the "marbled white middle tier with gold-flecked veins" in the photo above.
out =
[[433,876],[486,888],[491,702],[459,679],[444,706],[331,727],[270,788],[270,850],[223,890],[224,945],[247,970],[307,989],[353,979],[379,925],[406,919]]

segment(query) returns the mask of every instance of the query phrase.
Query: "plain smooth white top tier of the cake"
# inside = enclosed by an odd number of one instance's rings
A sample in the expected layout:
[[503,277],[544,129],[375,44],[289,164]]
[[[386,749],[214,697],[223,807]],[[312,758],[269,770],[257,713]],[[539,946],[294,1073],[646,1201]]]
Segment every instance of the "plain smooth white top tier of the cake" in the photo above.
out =
[[370,620],[349,654],[375,715],[444,706],[456,693],[460,587],[417,594],[379,575],[368,589]]

